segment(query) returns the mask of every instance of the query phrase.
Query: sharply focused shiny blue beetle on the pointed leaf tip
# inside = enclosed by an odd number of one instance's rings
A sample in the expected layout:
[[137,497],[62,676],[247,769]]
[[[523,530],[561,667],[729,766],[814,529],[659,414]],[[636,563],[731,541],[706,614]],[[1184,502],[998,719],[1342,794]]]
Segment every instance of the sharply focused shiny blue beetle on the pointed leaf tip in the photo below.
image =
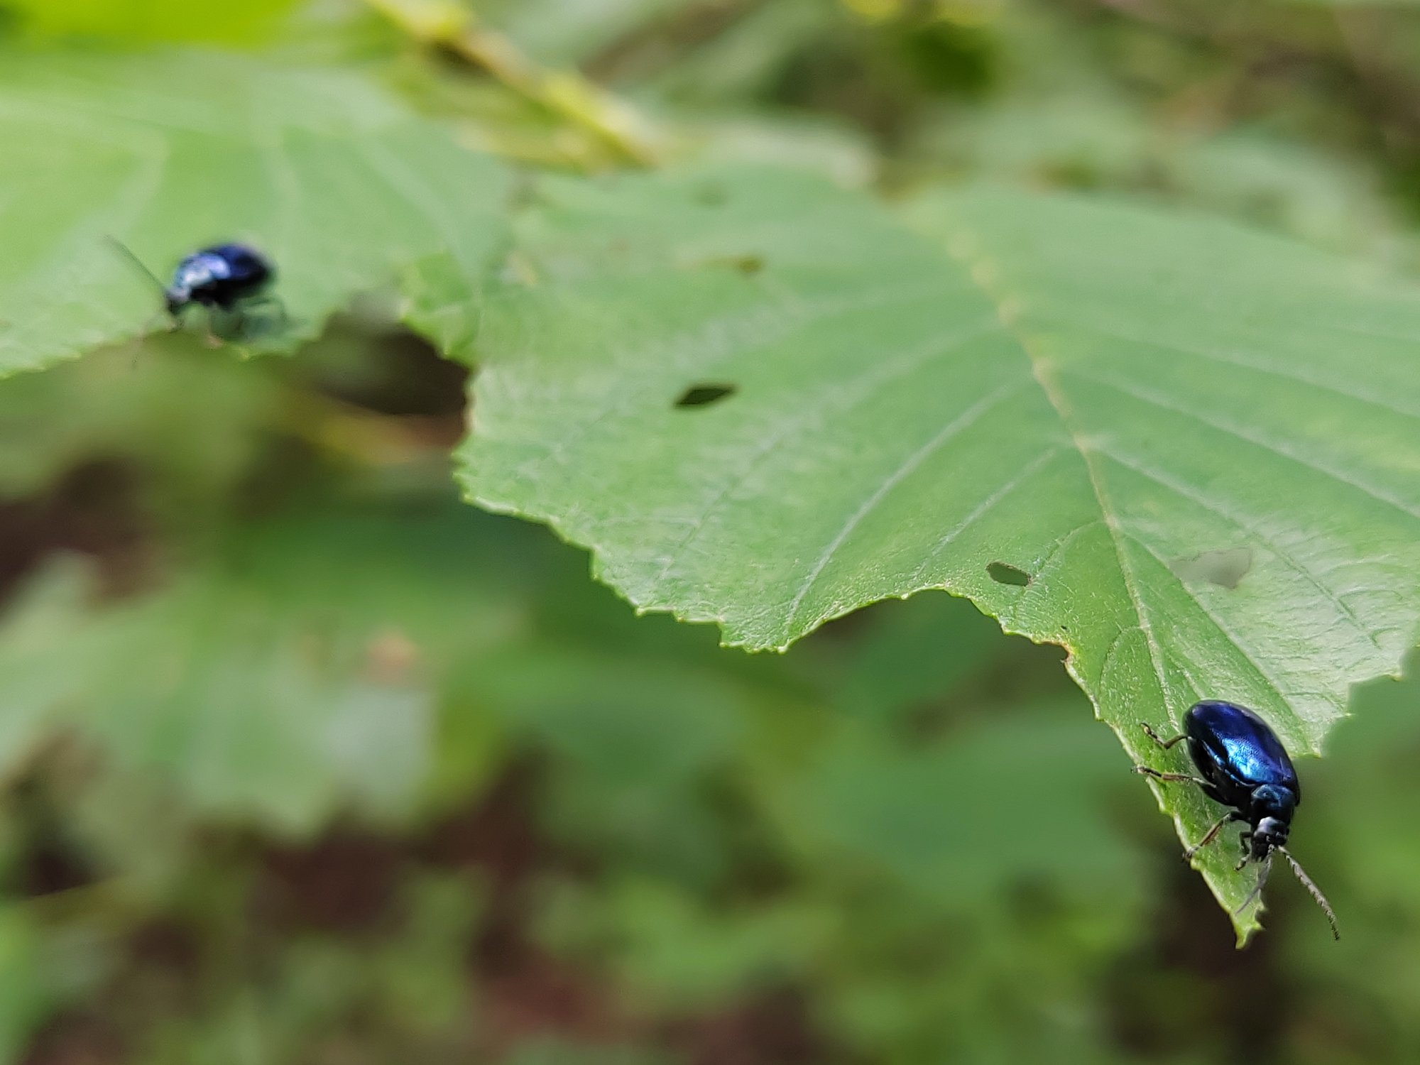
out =
[[1272,852],[1282,855],[1296,879],[1302,882],[1316,905],[1322,907],[1326,920],[1331,922],[1332,936],[1340,939],[1336,929],[1336,914],[1332,912],[1326,896],[1321,893],[1312,879],[1306,875],[1296,859],[1287,849],[1287,838],[1292,828],[1292,814],[1302,801],[1302,785],[1296,780],[1296,770],[1292,760],[1277,738],[1277,733],[1268,727],[1255,711],[1237,703],[1207,700],[1189,707],[1183,716],[1183,731],[1169,740],[1163,740],[1147,724],[1143,730],[1156,744],[1169,750],[1180,740],[1189,741],[1189,755],[1198,767],[1203,780],[1190,777],[1186,772],[1160,772],[1147,765],[1135,765],[1135,772],[1143,772],[1162,781],[1189,781],[1203,788],[1203,794],[1231,811],[1218,818],[1217,824],[1197,843],[1184,852],[1184,859],[1193,856],[1213,842],[1225,824],[1242,821],[1250,828],[1242,832],[1242,861],[1241,869],[1248,862],[1261,865],[1257,878],[1257,888],[1238,906],[1241,913],[1262,893],[1267,875],[1272,868]]

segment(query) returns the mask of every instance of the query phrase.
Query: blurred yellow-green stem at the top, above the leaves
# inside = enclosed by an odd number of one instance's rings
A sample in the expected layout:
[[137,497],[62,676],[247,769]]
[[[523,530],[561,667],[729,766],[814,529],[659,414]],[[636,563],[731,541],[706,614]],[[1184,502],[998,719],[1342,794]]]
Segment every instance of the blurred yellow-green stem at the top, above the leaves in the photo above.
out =
[[622,99],[575,71],[542,67],[453,0],[366,0],[427,48],[449,51],[481,67],[518,95],[591,131],[636,166],[655,166],[657,152],[645,119]]

